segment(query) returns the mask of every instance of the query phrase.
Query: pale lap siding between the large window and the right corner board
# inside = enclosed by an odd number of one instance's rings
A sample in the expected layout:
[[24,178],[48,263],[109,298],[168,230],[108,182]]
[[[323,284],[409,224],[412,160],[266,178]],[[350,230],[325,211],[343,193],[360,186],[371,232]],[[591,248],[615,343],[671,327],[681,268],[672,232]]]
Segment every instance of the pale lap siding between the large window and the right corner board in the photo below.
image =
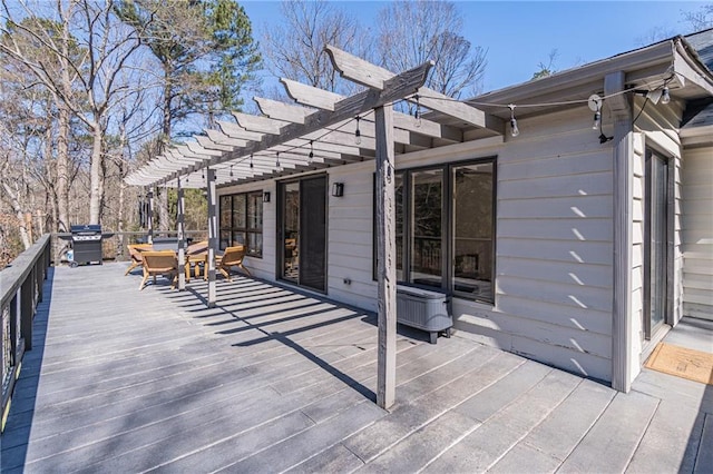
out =
[[498,155],[496,306],[456,299],[457,327],[609,379],[612,146],[586,109],[518,122]]

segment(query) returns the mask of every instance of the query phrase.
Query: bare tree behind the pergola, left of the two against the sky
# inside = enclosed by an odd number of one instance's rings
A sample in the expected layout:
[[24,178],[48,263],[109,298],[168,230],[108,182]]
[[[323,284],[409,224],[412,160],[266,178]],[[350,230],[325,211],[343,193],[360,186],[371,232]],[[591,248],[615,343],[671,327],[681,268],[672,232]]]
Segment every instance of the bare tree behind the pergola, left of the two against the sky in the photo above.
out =
[[320,89],[351,93],[354,83],[338,79],[324,47],[331,45],[368,57],[371,36],[328,1],[283,1],[280,9],[283,23],[265,29],[262,37],[270,71]]

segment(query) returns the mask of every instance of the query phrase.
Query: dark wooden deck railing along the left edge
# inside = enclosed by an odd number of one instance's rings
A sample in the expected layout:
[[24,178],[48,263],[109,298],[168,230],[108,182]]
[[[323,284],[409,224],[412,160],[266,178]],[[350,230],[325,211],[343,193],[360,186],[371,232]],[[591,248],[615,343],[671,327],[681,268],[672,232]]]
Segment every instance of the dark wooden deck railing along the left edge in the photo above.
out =
[[42,300],[42,286],[51,264],[51,236],[40,237],[0,271],[2,325],[0,326],[0,365],[2,366],[2,419],[10,407],[10,397],[20,374],[22,356],[32,348],[32,320],[37,304]]

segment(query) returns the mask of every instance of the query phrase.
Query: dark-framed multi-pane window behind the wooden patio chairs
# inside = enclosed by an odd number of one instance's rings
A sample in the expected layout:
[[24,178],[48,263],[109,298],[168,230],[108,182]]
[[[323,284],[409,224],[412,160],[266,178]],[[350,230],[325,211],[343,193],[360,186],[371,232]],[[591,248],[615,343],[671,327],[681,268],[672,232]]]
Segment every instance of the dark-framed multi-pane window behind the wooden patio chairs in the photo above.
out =
[[221,249],[234,245],[244,245],[251,257],[262,257],[262,191],[221,196]]

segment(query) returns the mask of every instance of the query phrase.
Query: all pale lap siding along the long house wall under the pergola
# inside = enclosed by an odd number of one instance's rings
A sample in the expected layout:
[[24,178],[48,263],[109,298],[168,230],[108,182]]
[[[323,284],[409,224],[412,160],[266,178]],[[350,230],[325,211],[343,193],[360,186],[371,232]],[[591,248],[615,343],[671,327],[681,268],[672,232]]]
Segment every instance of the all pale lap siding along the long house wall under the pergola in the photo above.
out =
[[[589,377],[611,378],[612,145],[584,109],[521,119],[517,139],[400,156],[399,168],[497,156],[496,305],[453,298],[456,327],[506,350]],[[469,148],[472,147],[472,148]],[[373,161],[329,169],[330,297],[375,310]],[[274,188],[274,184],[271,182]],[[241,191],[246,188],[241,187]],[[274,192],[274,189],[272,189]],[[274,278],[276,203],[265,205],[265,258]]]

